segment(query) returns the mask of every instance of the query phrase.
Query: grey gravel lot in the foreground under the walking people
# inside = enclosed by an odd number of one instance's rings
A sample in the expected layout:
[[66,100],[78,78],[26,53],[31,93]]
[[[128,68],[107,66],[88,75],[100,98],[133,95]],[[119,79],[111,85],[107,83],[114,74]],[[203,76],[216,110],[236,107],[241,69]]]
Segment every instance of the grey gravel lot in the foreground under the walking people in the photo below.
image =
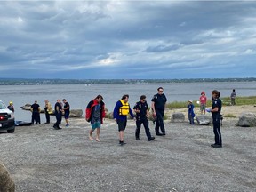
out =
[[[63,121],[64,123],[64,121]],[[100,142],[88,140],[90,124],[73,118],[69,128],[51,124],[0,133],[1,160],[16,191],[255,191],[256,128],[224,119],[223,148],[211,148],[212,125],[165,121],[167,135],[148,142],[135,122],[118,144],[116,122],[107,119]],[[154,134],[153,124],[150,123]]]

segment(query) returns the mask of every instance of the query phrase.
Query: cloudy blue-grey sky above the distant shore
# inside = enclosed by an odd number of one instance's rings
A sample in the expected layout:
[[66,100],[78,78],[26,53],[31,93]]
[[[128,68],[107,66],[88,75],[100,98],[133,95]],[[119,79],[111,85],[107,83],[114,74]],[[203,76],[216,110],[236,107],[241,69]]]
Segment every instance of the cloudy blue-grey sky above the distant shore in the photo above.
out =
[[256,77],[256,1],[2,1],[0,77]]

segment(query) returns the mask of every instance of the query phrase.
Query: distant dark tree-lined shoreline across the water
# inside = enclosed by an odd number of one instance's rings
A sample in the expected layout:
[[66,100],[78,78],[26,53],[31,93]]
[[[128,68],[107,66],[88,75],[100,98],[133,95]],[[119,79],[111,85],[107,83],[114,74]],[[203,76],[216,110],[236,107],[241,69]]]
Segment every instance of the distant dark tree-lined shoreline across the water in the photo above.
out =
[[188,79],[28,79],[0,78],[0,85],[41,84],[164,84],[164,83],[209,83],[209,82],[256,82],[256,77],[247,78],[188,78]]

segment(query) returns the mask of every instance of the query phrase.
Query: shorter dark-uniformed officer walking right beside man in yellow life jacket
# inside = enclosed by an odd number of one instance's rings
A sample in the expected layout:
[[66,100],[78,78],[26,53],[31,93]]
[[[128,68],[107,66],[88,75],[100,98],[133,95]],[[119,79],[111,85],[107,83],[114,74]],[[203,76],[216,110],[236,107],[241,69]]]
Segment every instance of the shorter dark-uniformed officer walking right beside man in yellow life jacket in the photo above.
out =
[[146,101],[145,95],[140,96],[140,101],[135,104],[133,110],[136,113],[136,132],[135,132],[136,140],[140,140],[141,124],[143,124],[145,128],[148,141],[155,140],[155,137],[151,137],[151,133],[148,127],[148,103]]

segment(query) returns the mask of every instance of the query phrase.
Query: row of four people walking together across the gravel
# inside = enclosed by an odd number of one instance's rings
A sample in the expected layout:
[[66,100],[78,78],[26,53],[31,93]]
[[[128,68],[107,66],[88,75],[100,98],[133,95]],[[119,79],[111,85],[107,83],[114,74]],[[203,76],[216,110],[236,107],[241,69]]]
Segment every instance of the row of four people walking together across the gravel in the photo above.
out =
[[[153,116],[156,117],[156,127],[155,132],[158,136],[165,135],[164,129],[164,109],[166,105],[166,97],[164,95],[163,87],[157,89],[158,93],[154,95],[151,104],[153,110]],[[127,116],[130,114],[132,119],[136,121],[136,131],[135,139],[140,140],[140,128],[143,124],[148,141],[155,140],[155,137],[151,136],[149,126],[148,126],[148,116],[149,108],[145,95],[140,96],[140,100],[136,102],[133,107],[133,111],[136,116],[133,115],[132,108],[129,104],[129,95],[124,94],[121,100],[116,102],[116,106],[113,111],[113,117],[116,120],[119,132],[119,144],[123,146],[126,144],[124,142],[124,130],[127,125]],[[92,129],[89,132],[89,140],[94,140],[92,137],[92,132],[96,130],[96,141],[100,141],[100,125],[103,123],[103,118],[105,117],[105,103],[103,102],[103,97],[98,95],[94,100],[91,100],[86,107],[85,119],[91,122]],[[160,132],[161,130],[161,132]]]

